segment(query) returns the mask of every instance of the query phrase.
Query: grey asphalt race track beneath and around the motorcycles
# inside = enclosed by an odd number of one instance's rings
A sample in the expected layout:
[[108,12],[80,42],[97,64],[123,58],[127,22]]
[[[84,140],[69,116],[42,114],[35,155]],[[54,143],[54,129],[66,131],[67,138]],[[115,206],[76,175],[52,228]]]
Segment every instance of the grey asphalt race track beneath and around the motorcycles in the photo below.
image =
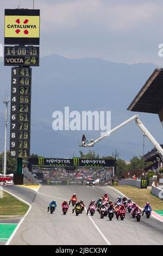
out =
[[[62,214],[62,201],[70,200],[73,193],[84,200],[86,207],[104,192],[115,200],[119,194],[108,186],[41,186],[37,193],[18,186],[5,190],[32,205],[10,245],[163,245],[163,223],[153,217],[143,216],[137,222],[127,213],[124,221],[115,217],[109,221],[108,217],[101,219],[97,211],[92,217],[86,212],[76,216],[72,214],[72,206],[67,215]],[[50,214],[47,206],[53,199],[57,201],[57,209]]]

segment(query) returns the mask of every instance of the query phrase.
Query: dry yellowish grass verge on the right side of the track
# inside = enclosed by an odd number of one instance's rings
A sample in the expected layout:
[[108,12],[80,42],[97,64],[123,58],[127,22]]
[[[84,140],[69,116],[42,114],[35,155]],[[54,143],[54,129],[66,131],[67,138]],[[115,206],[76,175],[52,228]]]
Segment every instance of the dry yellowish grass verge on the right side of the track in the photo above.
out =
[[129,185],[121,185],[115,188],[125,194],[128,198],[131,198],[141,208],[143,208],[145,203],[149,201],[154,211],[163,210],[163,200],[153,196],[153,194],[151,194],[151,189],[137,188]]

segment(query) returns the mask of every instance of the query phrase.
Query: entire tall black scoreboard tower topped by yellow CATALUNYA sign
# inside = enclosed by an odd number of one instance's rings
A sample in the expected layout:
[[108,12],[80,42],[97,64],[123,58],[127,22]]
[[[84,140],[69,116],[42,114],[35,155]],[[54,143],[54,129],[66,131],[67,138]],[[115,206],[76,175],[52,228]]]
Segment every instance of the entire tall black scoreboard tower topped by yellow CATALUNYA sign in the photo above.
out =
[[17,158],[22,183],[22,159],[30,156],[32,68],[39,66],[40,10],[5,9],[4,65],[11,68],[10,157]]

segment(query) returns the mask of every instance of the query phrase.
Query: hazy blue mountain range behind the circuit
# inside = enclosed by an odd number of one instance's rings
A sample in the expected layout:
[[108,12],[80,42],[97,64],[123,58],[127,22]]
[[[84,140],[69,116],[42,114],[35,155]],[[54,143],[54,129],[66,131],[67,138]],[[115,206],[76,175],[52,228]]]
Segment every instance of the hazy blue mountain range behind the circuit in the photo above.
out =
[[[136,113],[127,107],[155,69],[152,63],[124,64],[103,59],[68,59],[58,54],[40,58],[40,66],[32,69],[31,153],[45,157],[79,156],[87,148],[78,147],[83,133],[87,139],[97,138],[100,131],[54,131],[52,113],[70,111],[111,111],[111,128]],[[5,95],[10,95],[11,67],[0,62],[0,151],[3,151]],[[139,114],[139,113],[138,113]],[[140,119],[161,144],[162,127],[158,115],[140,113]],[[8,127],[9,127],[8,118]],[[9,129],[8,129],[9,134]],[[8,135],[9,136],[9,135]],[[9,140],[8,140],[9,141]],[[9,144],[9,143],[8,143]],[[153,145],[145,139],[145,152]],[[90,148],[91,149],[91,148]],[[133,123],[95,145],[99,156],[119,156],[129,161],[143,153],[143,136]]]

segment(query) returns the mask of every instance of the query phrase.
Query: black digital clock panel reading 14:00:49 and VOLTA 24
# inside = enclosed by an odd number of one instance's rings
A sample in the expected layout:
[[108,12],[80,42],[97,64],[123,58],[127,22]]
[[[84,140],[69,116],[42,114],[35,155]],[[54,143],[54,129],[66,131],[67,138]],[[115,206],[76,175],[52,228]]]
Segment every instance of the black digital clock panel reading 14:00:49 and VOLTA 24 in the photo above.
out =
[[5,66],[39,66],[39,47],[4,46]]

